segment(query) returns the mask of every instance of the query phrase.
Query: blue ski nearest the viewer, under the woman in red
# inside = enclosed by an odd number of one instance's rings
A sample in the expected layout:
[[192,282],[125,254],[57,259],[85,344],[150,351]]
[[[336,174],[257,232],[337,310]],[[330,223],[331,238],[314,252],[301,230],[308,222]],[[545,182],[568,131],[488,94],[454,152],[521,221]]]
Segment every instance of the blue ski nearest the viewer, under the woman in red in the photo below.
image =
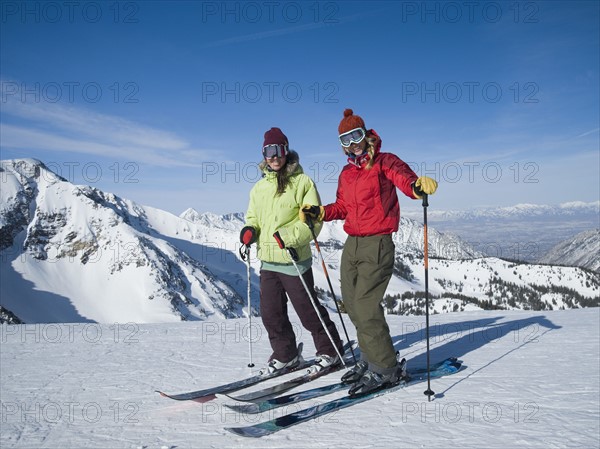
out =
[[[430,368],[430,376],[431,378],[437,378],[442,376],[447,376],[450,374],[454,374],[461,369],[462,362],[457,359],[450,359],[442,362],[441,366],[438,366],[435,369]],[[359,396],[342,396],[341,398],[334,399],[329,402],[325,402],[323,404],[315,405],[312,407],[308,407],[304,410],[300,410],[298,412],[290,413],[288,415],[284,415],[278,418],[271,419],[269,421],[264,421],[258,424],[254,424],[251,426],[244,427],[226,427],[225,430],[232,432],[236,435],[240,435],[243,437],[253,437],[260,438],[265,435],[270,435],[275,432],[278,432],[283,429],[287,429],[296,424],[300,424],[306,421],[310,421],[312,419],[318,418],[319,416],[323,416],[327,413],[331,413],[333,411],[341,410],[346,407],[350,407],[351,405],[359,404],[361,402],[368,401],[369,399],[373,399],[384,394],[392,393],[401,388],[405,388],[407,386],[426,382],[427,381],[427,371],[420,373],[410,373],[412,377],[408,381],[401,381],[398,384],[392,385],[387,388],[383,388],[371,393],[366,393]],[[335,384],[338,385],[338,384]],[[348,385],[345,385],[348,387]],[[315,389],[316,390],[316,389]],[[310,391],[310,390],[309,390]],[[300,394],[300,393],[298,393]]]

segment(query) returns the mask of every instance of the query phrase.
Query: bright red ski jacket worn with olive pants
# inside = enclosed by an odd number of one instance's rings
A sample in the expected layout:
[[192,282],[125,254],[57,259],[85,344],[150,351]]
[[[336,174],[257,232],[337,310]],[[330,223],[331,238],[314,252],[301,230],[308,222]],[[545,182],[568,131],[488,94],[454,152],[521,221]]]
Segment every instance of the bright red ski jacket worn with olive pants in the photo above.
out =
[[348,235],[391,234],[398,230],[400,205],[398,187],[409,198],[414,196],[411,184],[417,175],[398,156],[381,153],[381,139],[374,130],[367,132],[375,138],[373,166],[363,160],[356,164],[352,159],[340,173],[335,203],[324,206],[324,221],[345,220],[344,231]]

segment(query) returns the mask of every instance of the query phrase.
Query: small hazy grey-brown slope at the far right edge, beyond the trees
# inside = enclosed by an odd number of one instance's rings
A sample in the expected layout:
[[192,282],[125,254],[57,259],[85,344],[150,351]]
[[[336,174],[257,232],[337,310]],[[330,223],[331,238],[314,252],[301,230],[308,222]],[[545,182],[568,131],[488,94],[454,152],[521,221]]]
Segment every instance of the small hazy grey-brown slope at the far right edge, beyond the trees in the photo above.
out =
[[600,229],[580,232],[560,242],[544,254],[539,262],[600,271]]

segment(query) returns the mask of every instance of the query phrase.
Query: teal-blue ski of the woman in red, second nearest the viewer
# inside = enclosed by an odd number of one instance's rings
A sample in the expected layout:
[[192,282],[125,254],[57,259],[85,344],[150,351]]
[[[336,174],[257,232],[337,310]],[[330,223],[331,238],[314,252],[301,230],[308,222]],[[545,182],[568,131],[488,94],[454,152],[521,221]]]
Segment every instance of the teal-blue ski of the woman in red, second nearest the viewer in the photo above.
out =
[[[451,365],[455,362],[455,358],[448,358],[442,362],[432,365],[430,367],[430,371],[435,372],[443,370],[447,365]],[[412,376],[413,378],[415,376],[420,376],[423,374],[427,374],[427,368],[417,368],[409,370],[409,376]],[[350,385],[345,384],[343,382],[338,382],[323,387],[316,387],[310,390],[300,391],[298,393],[292,393],[287,396],[257,401],[252,404],[225,404],[225,407],[239,413],[256,414],[266,412],[268,410],[273,410],[275,408],[283,407],[285,405],[295,404],[297,402],[302,402],[309,399],[318,398],[320,396],[325,396],[336,391],[347,390],[348,388],[350,388]]]

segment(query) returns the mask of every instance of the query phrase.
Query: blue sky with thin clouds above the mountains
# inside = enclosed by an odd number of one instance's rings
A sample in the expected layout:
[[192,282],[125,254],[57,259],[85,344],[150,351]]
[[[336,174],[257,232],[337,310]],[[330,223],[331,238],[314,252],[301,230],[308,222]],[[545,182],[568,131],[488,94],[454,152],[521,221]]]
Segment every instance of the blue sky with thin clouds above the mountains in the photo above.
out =
[[600,197],[596,1],[1,7],[2,159],[144,205],[244,212],[272,126],[331,202],[348,107],[431,207]]

